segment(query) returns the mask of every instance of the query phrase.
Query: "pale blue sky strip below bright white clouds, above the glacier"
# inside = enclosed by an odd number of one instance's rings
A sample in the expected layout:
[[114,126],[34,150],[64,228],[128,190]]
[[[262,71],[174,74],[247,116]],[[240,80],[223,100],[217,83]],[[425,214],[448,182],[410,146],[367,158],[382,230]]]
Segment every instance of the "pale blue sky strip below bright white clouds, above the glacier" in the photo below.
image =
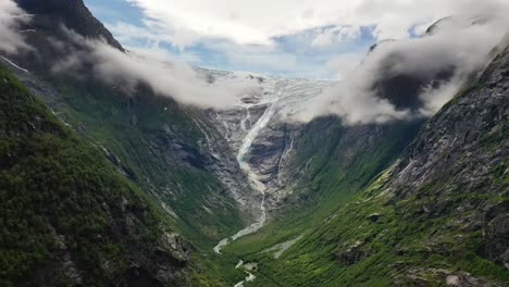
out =
[[[194,65],[218,68],[249,71],[290,77],[336,78],[338,71],[332,60],[342,54],[360,58],[375,41],[373,27],[361,27],[355,38],[338,40],[326,46],[313,46],[320,33],[335,26],[323,26],[301,30],[297,34],[271,37],[270,47],[260,43],[236,43],[232,39],[214,37],[195,41],[182,48],[171,39],[150,40],[144,30],[152,32],[145,22],[150,18],[144,11],[125,0],[85,0],[87,7],[122,45],[142,52],[160,55],[163,60],[178,59]],[[120,26],[138,27],[128,34]],[[153,51],[153,52],[152,52]]]

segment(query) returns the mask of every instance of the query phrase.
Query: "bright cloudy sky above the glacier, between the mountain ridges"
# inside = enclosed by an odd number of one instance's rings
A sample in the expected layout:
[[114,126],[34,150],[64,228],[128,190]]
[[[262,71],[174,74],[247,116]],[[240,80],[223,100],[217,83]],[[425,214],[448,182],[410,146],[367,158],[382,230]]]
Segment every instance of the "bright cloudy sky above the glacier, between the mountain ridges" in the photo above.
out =
[[[489,10],[472,0],[85,0],[123,46],[152,58],[287,77],[340,79],[384,39]],[[507,2],[495,0],[491,2]]]

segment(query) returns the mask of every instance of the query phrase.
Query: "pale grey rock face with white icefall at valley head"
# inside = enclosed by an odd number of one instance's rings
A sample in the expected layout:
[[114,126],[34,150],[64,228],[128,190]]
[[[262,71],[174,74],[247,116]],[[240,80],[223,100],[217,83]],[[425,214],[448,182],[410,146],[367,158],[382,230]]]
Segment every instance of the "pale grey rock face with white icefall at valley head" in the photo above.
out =
[[[288,195],[281,186],[286,169],[291,170],[295,134],[302,124],[291,123],[289,115],[300,104],[319,96],[334,83],[297,78],[253,76],[249,73],[215,72],[209,73],[214,82],[228,78],[245,78],[260,86],[259,95],[244,97],[241,103],[225,111],[208,111],[207,116],[226,140],[238,161],[254,176],[258,185],[266,190],[266,207],[274,204],[273,199]],[[294,175],[294,174],[291,174]],[[269,208],[271,209],[271,208]]]

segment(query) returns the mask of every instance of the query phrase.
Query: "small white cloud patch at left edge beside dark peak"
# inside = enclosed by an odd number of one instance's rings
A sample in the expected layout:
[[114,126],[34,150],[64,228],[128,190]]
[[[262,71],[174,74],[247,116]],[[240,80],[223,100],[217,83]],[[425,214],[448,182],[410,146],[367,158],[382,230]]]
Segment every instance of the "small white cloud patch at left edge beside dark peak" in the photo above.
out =
[[20,49],[28,49],[20,33],[20,25],[29,20],[11,0],[0,1],[0,51],[16,53]]

